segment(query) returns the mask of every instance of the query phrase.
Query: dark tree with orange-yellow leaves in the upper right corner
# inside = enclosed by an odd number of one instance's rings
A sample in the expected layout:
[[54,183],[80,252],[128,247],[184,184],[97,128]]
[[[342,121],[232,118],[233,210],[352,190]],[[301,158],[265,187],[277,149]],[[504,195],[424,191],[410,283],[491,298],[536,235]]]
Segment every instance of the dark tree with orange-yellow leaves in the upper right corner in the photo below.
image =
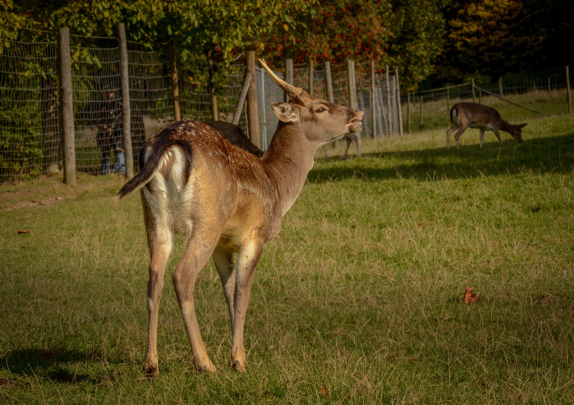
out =
[[571,0],[447,0],[443,14],[447,36],[430,86],[572,64]]

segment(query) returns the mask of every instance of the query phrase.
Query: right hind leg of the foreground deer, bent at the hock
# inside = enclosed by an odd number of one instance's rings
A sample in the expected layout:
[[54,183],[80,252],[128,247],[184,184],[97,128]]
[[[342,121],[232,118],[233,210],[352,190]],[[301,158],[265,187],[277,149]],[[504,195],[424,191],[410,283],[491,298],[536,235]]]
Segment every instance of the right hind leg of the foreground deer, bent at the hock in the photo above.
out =
[[[196,227],[199,226],[199,224],[196,225]],[[207,355],[199,324],[197,324],[193,288],[197,274],[205,266],[218,242],[220,232],[217,232],[218,227],[212,224],[203,225],[201,228],[205,231],[196,229],[189,236],[183,256],[173,271],[172,281],[191,344],[193,364],[197,371],[215,372],[215,366]]]

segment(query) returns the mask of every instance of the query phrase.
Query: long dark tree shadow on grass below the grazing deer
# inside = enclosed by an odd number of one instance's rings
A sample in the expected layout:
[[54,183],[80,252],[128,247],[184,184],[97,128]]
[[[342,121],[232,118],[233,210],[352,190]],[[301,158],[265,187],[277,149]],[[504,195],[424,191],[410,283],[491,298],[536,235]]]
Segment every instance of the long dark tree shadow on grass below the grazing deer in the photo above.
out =
[[[396,166],[373,167],[370,158],[394,159]],[[340,160],[339,157],[328,160]],[[436,148],[415,151],[382,152],[363,154],[351,159],[347,167],[313,169],[308,176],[312,183],[347,178],[417,180],[476,178],[490,175],[518,175],[534,171],[542,174],[569,173],[574,171],[574,133],[563,136],[525,140],[522,144],[513,140],[478,145]],[[336,166],[336,165],[335,165]]]

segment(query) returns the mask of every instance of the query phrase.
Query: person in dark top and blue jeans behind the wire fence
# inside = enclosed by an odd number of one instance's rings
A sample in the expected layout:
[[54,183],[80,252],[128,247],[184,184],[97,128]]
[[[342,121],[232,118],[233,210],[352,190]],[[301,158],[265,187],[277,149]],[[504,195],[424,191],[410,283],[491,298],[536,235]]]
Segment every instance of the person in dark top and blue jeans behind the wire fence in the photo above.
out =
[[[126,153],[123,150],[122,137],[122,108],[117,100],[117,92],[113,88],[104,90],[103,101],[98,111],[98,132],[96,143],[102,151],[100,174],[121,172],[126,174]],[[110,149],[115,151],[115,164],[110,170]]]

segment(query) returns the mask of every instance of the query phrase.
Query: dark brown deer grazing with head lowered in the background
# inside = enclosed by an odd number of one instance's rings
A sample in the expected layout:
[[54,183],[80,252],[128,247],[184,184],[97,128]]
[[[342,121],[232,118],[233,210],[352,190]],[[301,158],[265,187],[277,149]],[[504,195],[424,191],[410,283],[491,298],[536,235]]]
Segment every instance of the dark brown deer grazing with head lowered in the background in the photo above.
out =
[[510,133],[518,142],[522,142],[522,128],[526,124],[512,125],[502,120],[501,115],[492,107],[476,103],[458,103],[451,108],[451,127],[447,130],[447,149],[451,147],[451,133],[455,133],[456,148],[459,148],[460,135],[467,128],[480,129],[480,147],[484,141],[484,131],[492,131],[502,143],[498,130]]

